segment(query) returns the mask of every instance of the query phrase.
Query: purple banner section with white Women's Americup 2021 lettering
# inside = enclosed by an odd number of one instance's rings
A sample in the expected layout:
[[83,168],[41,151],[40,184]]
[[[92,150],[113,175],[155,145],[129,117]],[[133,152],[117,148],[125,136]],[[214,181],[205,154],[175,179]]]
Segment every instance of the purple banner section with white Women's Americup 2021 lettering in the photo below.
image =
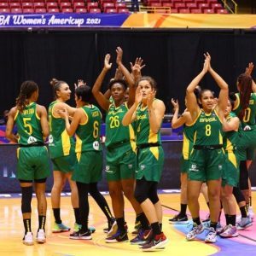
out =
[[130,14],[0,15],[0,28],[120,27]]

